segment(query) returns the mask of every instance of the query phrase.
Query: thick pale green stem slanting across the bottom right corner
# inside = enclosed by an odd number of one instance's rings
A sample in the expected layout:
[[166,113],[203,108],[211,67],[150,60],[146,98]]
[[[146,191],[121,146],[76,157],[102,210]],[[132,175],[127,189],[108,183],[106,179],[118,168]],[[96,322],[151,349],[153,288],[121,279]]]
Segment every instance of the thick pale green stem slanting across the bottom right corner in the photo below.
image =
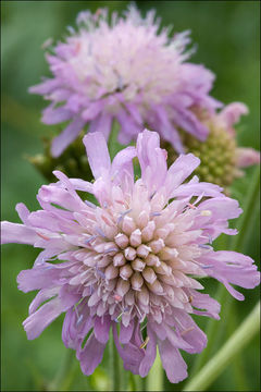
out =
[[206,391],[231,360],[247,345],[260,329],[260,302],[216,355],[188,382],[183,391]]

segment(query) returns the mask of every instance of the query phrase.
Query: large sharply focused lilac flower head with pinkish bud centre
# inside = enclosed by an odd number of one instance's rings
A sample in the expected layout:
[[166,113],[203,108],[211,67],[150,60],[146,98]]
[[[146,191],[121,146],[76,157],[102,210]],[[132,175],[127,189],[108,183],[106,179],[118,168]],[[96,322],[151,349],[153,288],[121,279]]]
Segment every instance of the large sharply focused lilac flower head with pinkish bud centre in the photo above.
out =
[[[41,210],[18,204],[24,223],[2,222],[3,243],[44,248],[17,277],[20,290],[39,290],[25,331],[35,339],[65,311],[62,339],[85,375],[101,362],[112,328],[125,369],[145,377],[158,345],[169,379],[178,382],[187,377],[179,350],[199,353],[207,344],[190,315],[219,319],[219,303],[198,291],[197,278],[217,279],[239,301],[232,284],[259,284],[250,257],[211,246],[221,233],[236,234],[227,220],[241,209],[217,185],[197,176],[184,183],[200,162],[194,155],[167,170],[154,132],[140,133],[136,148],[123,149],[112,163],[101,133],[86,135],[84,144],[94,183],[55,171],[59,181],[39,189]],[[136,182],[134,157],[141,169]]]

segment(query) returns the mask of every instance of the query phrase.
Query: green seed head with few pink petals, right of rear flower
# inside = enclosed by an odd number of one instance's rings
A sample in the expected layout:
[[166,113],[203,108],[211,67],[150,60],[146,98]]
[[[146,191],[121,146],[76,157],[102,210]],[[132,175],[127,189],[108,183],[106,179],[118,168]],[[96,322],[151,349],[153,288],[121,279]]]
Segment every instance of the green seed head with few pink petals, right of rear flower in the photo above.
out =
[[[213,182],[221,186],[229,186],[233,180],[244,175],[243,168],[259,164],[260,152],[249,147],[238,147],[235,124],[248,108],[241,102],[233,102],[215,113],[199,112],[200,121],[209,128],[204,142],[183,133],[185,150],[200,158],[201,164],[195,174],[201,181]],[[167,143],[162,144],[169,152],[169,164],[177,154]]]

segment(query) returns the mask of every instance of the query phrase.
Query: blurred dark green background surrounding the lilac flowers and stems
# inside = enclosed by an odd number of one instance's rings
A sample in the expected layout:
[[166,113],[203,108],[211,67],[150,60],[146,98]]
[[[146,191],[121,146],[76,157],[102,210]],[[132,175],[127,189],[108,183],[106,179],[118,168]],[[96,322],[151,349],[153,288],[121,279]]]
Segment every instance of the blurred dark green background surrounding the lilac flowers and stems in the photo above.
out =
[[[125,9],[127,1],[2,1],[2,143],[1,185],[2,220],[18,222],[15,205],[38,208],[36,194],[45,179],[26,160],[26,156],[42,151],[40,137],[52,133],[51,126],[40,123],[40,111],[46,107],[41,97],[29,95],[29,86],[41,75],[49,75],[41,45],[48,38],[61,39],[66,26],[74,26],[77,13],[85,9],[96,11]],[[174,24],[175,32],[191,30],[198,49],[192,62],[203,63],[216,74],[212,95],[228,103],[243,101],[250,110],[237,126],[241,146],[260,149],[260,73],[259,73],[259,8],[258,1],[136,1],[145,14],[152,5],[162,17],[162,24]],[[246,204],[246,192],[251,185],[254,168],[234,184],[233,196]],[[259,261],[259,205],[253,203],[249,212],[250,229],[243,238],[239,252]],[[235,223],[236,224],[236,223]],[[26,245],[5,245],[2,248],[2,391],[45,391],[54,379],[66,348],[61,340],[63,316],[53,322],[40,338],[27,341],[22,322],[35,293],[17,290],[16,275],[30,268],[38,254]],[[207,291],[215,297],[217,285],[207,282]],[[240,290],[246,301],[233,301],[231,314],[219,322],[222,340],[233,333],[259,298],[259,287]],[[207,319],[195,317],[202,329]],[[219,347],[213,347],[216,351]],[[196,355],[184,358],[191,369]],[[74,358],[64,380],[64,390],[103,390],[108,388],[108,353],[96,372],[82,375]],[[259,391],[259,336],[240,353],[236,363],[209,388],[209,391]],[[179,391],[183,383],[171,384],[164,379],[164,389]]]

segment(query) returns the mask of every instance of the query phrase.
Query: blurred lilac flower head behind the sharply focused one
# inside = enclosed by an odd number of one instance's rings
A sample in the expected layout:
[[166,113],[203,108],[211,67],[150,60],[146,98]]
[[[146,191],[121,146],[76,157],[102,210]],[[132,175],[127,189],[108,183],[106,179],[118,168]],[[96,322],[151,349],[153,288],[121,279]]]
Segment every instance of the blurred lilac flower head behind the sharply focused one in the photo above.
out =
[[51,101],[42,122],[69,121],[53,139],[58,157],[88,124],[89,132],[108,138],[112,121],[120,123],[119,140],[128,144],[145,126],[158,130],[175,150],[184,152],[178,127],[204,140],[208,128],[195,109],[213,111],[209,96],[214,75],[189,63],[188,32],[169,38],[154,11],[142,19],[130,5],[123,16],[108,10],[79,13],[77,29],[47,52],[52,73],[30,93]]

